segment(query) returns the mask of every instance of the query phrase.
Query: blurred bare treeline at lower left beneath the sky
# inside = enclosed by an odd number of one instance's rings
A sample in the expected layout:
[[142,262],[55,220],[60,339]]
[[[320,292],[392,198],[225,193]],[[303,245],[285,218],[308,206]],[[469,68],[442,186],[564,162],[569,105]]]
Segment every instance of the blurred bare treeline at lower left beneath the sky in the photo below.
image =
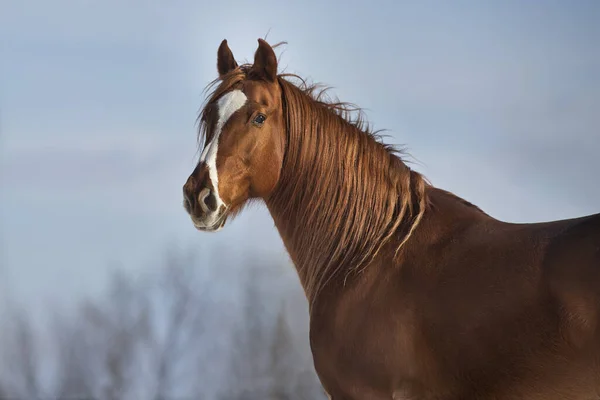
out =
[[5,309],[0,399],[325,399],[295,272],[170,252],[70,311]]

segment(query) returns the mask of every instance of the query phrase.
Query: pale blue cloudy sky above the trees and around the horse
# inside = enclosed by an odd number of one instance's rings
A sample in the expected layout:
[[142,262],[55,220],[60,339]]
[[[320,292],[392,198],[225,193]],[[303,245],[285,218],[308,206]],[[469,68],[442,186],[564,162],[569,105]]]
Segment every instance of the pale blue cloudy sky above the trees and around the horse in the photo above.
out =
[[[0,291],[31,307],[166,248],[287,260],[253,206],[194,229],[181,187],[227,39],[366,109],[438,187],[510,222],[600,212],[600,3],[0,2]],[[237,257],[237,258],[236,258]]]

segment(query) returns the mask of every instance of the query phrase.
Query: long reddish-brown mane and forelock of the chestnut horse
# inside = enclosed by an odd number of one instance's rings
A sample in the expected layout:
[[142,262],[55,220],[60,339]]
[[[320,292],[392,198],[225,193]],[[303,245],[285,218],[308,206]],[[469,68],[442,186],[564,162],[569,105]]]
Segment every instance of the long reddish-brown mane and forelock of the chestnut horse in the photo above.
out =
[[[199,142],[210,140],[210,105],[250,68],[241,65],[207,86],[216,87],[199,115]],[[278,75],[278,83],[287,148],[269,200],[290,216],[298,272],[314,298],[338,273],[362,270],[391,240],[398,253],[429,204],[428,183],[403,163],[401,151],[382,143],[359,107],[294,74]],[[316,234],[305,235],[308,229]]]

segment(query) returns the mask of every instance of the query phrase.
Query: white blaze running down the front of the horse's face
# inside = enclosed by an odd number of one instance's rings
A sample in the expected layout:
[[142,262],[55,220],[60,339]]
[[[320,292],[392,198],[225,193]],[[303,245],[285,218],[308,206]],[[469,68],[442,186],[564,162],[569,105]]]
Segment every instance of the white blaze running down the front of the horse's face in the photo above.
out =
[[215,132],[212,140],[206,144],[202,154],[200,155],[200,162],[205,162],[208,168],[208,176],[213,184],[214,196],[217,199],[217,210],[220,208],[223,201],[219,196],[219,177],[217,176],[217,150],[219,147],[219,136],[223,126],[227,123],[229,118],[237,110],[242,108],[246,104],[247,97],[241,90],[233,90],[223,95],[217,102],[217,110],[219,112],[219,120],[215,127]]

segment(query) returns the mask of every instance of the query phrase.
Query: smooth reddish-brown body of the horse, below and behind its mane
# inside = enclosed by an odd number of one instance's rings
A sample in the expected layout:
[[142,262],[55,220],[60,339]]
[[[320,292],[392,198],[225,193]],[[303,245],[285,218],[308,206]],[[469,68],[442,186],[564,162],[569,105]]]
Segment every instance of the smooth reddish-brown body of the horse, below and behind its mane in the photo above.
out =
[[600,215],[494,220],[431,189],[435,211],[311,310],[333,399],[600,398]]

